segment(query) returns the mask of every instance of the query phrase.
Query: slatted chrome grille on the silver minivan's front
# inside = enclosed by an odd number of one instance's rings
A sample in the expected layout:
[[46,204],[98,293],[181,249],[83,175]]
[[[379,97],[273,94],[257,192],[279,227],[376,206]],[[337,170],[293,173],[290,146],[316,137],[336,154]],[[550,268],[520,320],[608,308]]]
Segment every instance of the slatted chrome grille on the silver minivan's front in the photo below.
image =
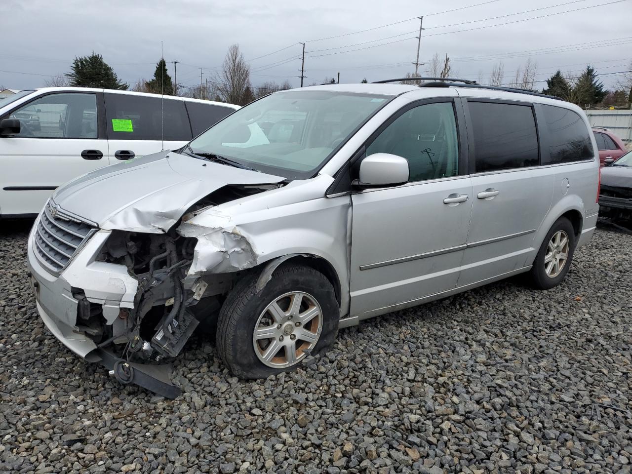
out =
[[59,273],[95,230],[94,226],[47,204],[35,228],[35,254],[49,270]]

